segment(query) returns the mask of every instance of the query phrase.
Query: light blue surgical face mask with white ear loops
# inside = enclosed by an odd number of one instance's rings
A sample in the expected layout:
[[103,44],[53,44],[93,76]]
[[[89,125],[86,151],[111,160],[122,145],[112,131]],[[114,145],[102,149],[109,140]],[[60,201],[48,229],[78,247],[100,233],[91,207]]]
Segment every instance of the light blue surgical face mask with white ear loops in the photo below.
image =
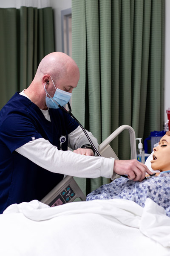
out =
[[[51,78],[51,80],[53,82],[52,78]],[[53,84],[54,84],[54,82],[53,82]],[[55,87],[55,84],[54,84],[54,87]],[[44,86],[44,88],[45,88],[45,86]],[[46,91],[45,91],[45,93],[46,93]],[[54,96],[51,98],[48,98],[47,93],[46,93],[45,102],[46,102],[47,108],[59,108],[59,106],[52,99],[54,99],[60,106],[64,106],[71,99],[71,95],[72,95],[72,93],[65,92],[64,90],[60,90],[58,88],[56,89]]]

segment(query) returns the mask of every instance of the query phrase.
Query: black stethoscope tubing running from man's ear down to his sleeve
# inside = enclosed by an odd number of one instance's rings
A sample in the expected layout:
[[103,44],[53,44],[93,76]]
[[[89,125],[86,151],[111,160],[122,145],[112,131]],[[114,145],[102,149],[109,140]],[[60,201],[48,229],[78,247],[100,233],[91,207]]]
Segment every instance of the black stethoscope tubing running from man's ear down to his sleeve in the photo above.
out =
[[[46,85],[46,83],[45,83],[45,85]],[[45,89],[45,85],[44,85],[44,89]],[[62,111],[64,111],[65,113],[68,113],[68,114],[79,124],[79,126],[80,126],[80,127],[82,128],[82,130],[84,131],[86,137],[88,138],[88,141],[90,142],[90,144],[91,144],[91,146],[93,147],[94,151],[96,152],[96,154],[97,154],[99,157],[101,157],[101,155],[100,155],[99,152],[97,151],[96,147],[94,146],[93,142],[91,141],[91,138],[88,136],[87,132],[85,131],[85,128],[81,125],[81,123],[77,120],[77,118],[71,113],[72,110],[71,110],[71,105],[70,105],[70,103],[69,103],[69,102],[67,103],[68,109],[69,109],[69,110],[67,111],[64,107],[60,106],[53,98],[51,98],[51,96],[50,96],[49,93],[46,91],[46,89],[45,89],[45,92],[46,92],[47,95],[50,97],[50,99],[52,99],[52,101],[53,101],[55,104],[57,104],[57,106],[58,106]]]

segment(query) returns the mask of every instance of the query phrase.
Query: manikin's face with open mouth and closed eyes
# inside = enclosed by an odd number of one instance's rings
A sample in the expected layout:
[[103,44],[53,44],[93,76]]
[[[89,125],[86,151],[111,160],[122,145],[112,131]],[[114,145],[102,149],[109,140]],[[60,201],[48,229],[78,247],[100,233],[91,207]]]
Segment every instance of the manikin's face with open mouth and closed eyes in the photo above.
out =
[[153,148],[153,160],[151,167],[153,170],[169,171],[170,170],[170,136],[164,135],[159,141],[159,145]]

